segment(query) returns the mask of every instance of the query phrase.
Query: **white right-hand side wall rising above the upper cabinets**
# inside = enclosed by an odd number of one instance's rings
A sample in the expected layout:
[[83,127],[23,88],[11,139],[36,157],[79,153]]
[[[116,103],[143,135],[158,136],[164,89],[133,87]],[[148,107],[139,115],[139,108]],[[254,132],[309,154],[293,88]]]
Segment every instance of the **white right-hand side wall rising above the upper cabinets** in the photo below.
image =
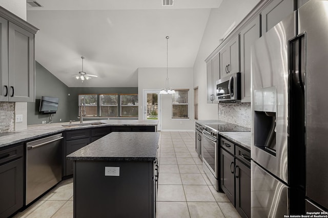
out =
[[207,104],[207,78],[205,59],[219,45],[219,39],[235,21],[236,26],[260,0],[223,0],[212,9],[194,64],[194,87],[198,86],[199,119],[218,119],[218,105]]

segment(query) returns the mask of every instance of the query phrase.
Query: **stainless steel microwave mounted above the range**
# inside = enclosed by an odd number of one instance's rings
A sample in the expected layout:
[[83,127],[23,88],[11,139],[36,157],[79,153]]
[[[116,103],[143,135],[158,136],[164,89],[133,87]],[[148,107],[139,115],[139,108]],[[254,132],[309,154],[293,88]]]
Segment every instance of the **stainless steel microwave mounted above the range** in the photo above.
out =
[[240,72],[216,81],[217,101],[238,101],[241,98]]

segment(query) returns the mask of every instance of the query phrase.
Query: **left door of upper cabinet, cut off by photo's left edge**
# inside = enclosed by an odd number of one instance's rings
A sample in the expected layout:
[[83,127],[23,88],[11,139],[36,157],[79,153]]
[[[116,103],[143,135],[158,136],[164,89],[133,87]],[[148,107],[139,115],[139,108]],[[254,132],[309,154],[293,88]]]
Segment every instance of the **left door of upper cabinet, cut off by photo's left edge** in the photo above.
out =
[[0,17],[0,101],[8,101],[8,20]]

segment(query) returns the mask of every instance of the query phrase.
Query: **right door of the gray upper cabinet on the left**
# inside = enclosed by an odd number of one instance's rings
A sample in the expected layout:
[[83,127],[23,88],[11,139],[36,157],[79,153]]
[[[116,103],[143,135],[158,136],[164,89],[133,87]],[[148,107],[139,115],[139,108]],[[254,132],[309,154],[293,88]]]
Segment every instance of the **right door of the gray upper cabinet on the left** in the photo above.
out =
[[34,102],[34,35],[9,22],[9,101]]

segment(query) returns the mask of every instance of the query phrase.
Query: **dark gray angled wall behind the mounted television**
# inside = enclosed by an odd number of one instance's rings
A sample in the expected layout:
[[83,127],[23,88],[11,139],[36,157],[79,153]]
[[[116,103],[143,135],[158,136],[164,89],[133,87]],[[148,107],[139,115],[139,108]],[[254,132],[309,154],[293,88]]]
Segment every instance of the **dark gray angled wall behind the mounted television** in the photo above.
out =
[[49,122],[49,114],[39,112],[41,96],[59,98],[58,111],[52,115],[53,123],[69,121],[68,86],[58,80],[45,67],[35,61],[35,102],[27,103],[27,125]]

